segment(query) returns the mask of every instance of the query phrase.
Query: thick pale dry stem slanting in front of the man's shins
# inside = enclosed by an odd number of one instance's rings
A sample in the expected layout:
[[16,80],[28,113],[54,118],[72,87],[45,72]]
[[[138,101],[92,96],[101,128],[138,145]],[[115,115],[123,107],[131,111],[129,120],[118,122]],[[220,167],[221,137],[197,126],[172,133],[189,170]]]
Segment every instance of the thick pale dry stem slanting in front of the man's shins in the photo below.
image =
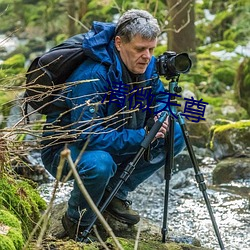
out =
[[64,158],[64,159],[68,160],[68,163],[69,163],[69,166],[70,166],[70,168],[71,168],[71,170],[73,172],[73,176],[75,178],[75,181],[77,182],[78,187],[79,187],[80,191],[82,192],[84,198],[88,202],[90,208],[95,212],[95,214],[97,215],[98,219],[100,220],[100,222],[104,226],[105,230],[113,238],[114,243],[118,247],[118,249],[119,250],[124,250],[123,247],[121,246],[121,244],[119,243],[119,241],[117,240],[116,236],[114,235],[111,227],[106,222],[106,220],[104,219],[104,217],[102,216],[102,214],[100,213],[100,211],[98,210],[98,208],[96,207],[95,203],[93,202],[92,198],[90,197],[90,195],[89,195],[88,191],[86,190],[85,186],[83,185],[83,182],[82,182],[79,174],[77,173],[77,170],[75,168],[74,162],[73,162],[73,160],[71,158],[70,150],[69,149],[64,149],[61,152],[61,158]]

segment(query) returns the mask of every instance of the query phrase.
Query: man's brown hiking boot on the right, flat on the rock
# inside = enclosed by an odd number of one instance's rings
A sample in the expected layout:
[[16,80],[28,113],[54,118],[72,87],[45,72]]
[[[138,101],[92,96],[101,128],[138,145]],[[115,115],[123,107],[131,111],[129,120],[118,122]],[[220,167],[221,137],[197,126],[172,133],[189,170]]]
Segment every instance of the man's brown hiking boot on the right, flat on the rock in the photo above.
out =
[[105,211],[122,223],[134,225],[140,221],[140,216],[130,208],[131,205],[132,201],[114,197]]

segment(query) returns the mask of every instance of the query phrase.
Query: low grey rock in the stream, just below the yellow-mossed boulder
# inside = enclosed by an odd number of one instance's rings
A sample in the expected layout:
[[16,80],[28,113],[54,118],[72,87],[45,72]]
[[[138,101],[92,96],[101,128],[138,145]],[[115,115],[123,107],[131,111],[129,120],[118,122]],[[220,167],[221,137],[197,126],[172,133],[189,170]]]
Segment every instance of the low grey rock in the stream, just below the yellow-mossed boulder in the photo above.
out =
[[228,183],[238,179],[250,179],[250,158],[226,158],[213,171],[213,183]]

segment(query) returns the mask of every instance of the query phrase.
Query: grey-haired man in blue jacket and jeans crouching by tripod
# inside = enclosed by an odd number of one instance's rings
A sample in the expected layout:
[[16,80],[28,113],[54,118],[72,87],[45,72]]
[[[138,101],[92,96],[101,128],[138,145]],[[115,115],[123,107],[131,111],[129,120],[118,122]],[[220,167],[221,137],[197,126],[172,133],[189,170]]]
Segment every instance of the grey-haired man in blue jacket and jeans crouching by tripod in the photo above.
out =
[[[159,32],[156,19],[142,10],[127,11],[117,25],[94,22],[83,41],[88,58],[69,77],[67,89],[47,116],[42,151],[46,169],[56,175],[60,152],[67,143],[72,159],[77,159],[80,178],[97,206],[116,186],[122,171],[140,149],[149,117],[156,120],[160,111],[167,109],[168,96],[164,94],[153,57]],[[82,80],[91,81],[77,83]],[[142,96],[137,90],[151,95],[138,102]],[[130,208],[127,196],[164,165],[167,130],[166,119],[152,142],[150,159],[140,159],[106,209],[117,220],[131,225],[139,222],[140,216]],[[176,155],[184,148],[177,123],[174,139]],[[63,176],[69,170],[66,163]],[[62,219],[65,231],[73,239],[80,238],[93,217],[75,182]]]

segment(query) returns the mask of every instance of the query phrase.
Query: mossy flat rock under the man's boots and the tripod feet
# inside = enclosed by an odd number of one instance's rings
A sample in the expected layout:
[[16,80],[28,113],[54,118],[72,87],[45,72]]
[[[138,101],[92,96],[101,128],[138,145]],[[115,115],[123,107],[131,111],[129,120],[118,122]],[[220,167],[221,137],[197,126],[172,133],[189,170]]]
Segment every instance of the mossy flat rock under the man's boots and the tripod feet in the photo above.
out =
[[[67,246],[67,248],[61,248],[60,249],[74,249],[75,247],[81,246],[83,247],[83,244],[85,243],[76,243],[73,241],[65,239],[57,239],[57,235],[62,235],[63,227],[61,224],[61,217],[65,213],[67,208],[67,204],[65,202],[54,205],[51,213],[51,220],[48,226],[47,230],[47,236],[43,241],[43,244],[48,246],[49,244],[53,244],[55,247],[58,246]],[[204,248],[200,246],[199,240],[193,237],[186,237],[186,236],[176,236],[173,232],[169,233],[169,237],[166,238],[166,243],[162,243],[161,239],[161,229],[157,227],[156,225],[152,224],[149,220],[141,219],[140,223],[138,223],[135,226],[128,226],[126,224],[120,223],[119,221],[114,220],[112,217],[105,215],[105,219],[112,228],[114,234],[116,237],[118,237],[119,242],[122,244],[124,249],[134,249],[135,239],[138,235],[138,231],[140,232],[139,235],[139,249],[155,249],[155,250],[174,250],[174,249],[180,249],[180,250],[209,250],[208,248]],[[99,228],[101,228],[99,226]],[[103,228],[102,228],[103,230]],[[63,241],[62,241],[63,240]],[[110,249],[114,249],[114,243],[112,238],[107,238],[106,244],[109,245]],[[69,248],[69,242],[70,247]],[[93,245],[93,248],[91,248],[90,245]],[[103,249],[102,247],[99,247],[96,243],[89,244],[88,247],[86,245],[84,246],[84,249]],[[111,245],[110,245],[111,244]],[[96,247],[96,248],[94,248]],[[55,248],[57,249],[57,248]],[[59,248],[58,248],[59,249]],[[76,248],[78,249],[78,248]]]

